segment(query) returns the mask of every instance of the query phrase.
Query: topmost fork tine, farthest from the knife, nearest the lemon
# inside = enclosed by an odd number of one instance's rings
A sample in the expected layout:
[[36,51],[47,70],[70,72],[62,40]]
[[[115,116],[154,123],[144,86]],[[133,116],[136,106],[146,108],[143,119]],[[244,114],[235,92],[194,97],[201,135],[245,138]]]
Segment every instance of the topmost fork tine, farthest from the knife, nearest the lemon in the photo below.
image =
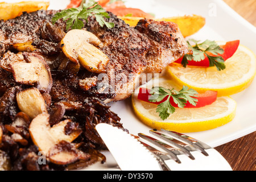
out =
[[163,129],[161,129],[161,131],[163,131],[163,133],[171,135],[174,138],[181,140],[184,143],[187,143],[187,144],[195,147],[197,150],[201,151],[205,156],[209,156],[209,154],[205,150],[212,148],[212,147],[208,146],[207,144],[200,142],[199,140],[189,137],[185,134],[177,133],[175,131],[168,131],[168,130],[163,130]]

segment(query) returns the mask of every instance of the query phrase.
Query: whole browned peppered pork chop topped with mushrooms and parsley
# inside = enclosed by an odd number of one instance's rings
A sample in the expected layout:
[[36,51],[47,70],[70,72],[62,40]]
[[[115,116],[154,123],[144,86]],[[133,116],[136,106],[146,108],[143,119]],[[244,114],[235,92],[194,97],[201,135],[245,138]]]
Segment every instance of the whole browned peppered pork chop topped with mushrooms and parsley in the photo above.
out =
[[[56,11],[24,13],[18,18],[0,22],[0,55],[13,49],[14,44],[32,42],[36,51],[51,59],[60,55],[59,42],[65,35],[65,23],[59,20],[57,31],[47,28]],[[177,25],[172,22],[156,22],[142,19],[133,28],[112,13],[108,22],[113,28],[101,27],[93,16],[85,22],[84,30],[92,32],[103,43],[100,48],[109,58],[104,81],[97,80],[86,92],[101,97],[105,102],[125,100],[148,79],[141,75],[161,73],[168,64],[187,52],[187,44]],[[55,62],[56,61],[51,61]],[[90,75],[90,74],[87,74]],[[91,74],[92,76],[98,76]],[[154,75],[146,76],[152,78]],[[81,77],[88,80],[90,77]],[[110,95],[112,97],[110,97]],[[104,98],[105,96],[105,98]]]

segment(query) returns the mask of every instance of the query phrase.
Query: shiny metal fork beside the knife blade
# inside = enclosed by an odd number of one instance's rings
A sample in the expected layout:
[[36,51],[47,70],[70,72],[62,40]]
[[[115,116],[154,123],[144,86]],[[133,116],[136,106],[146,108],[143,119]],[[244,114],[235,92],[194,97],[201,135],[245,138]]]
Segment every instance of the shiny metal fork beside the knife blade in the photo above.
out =
[[175,131],[150,130],[155,138],[139,133],[138,140],[155,155],[163,171],[232,171],[214,148]]

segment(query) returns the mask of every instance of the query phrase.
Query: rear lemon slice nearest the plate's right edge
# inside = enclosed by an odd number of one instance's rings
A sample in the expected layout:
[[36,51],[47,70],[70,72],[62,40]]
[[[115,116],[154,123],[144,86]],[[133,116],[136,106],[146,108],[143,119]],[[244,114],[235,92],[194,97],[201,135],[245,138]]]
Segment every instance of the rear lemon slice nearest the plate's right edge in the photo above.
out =
[[237,52],[225,61],[226,69],[217,71],[216,67],[182,67],[173,63],[167,67],[167,73],[179,85],[202,93],[206,90],[218,92],[218,96],[230,96],[248,88],[256,75],[256,56],[245,46],[239,46]]

